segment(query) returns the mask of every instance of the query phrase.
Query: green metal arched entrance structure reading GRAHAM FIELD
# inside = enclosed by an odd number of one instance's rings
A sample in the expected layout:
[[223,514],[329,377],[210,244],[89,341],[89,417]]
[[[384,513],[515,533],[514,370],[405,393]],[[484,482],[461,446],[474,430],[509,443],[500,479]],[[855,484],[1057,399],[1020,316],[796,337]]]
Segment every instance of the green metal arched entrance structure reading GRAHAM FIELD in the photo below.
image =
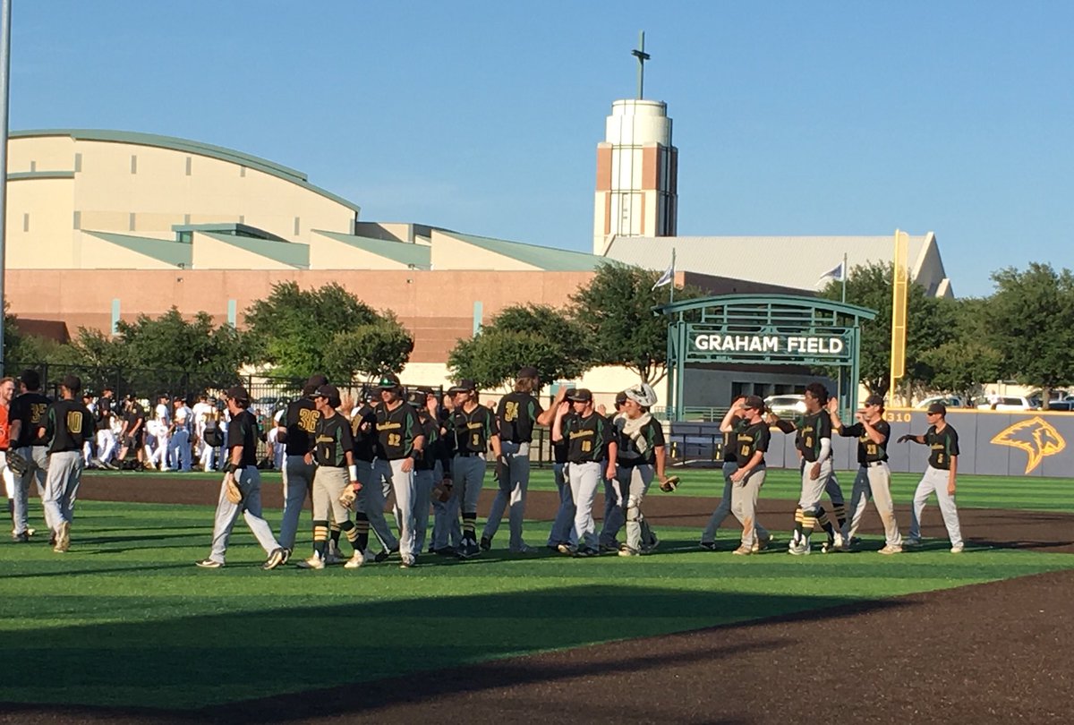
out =
[[661,305],[668,324],[668,417],[682,420],[686,365],[824,367],[845,412],[857,408],[866,307],[792,294],[721,294]]

